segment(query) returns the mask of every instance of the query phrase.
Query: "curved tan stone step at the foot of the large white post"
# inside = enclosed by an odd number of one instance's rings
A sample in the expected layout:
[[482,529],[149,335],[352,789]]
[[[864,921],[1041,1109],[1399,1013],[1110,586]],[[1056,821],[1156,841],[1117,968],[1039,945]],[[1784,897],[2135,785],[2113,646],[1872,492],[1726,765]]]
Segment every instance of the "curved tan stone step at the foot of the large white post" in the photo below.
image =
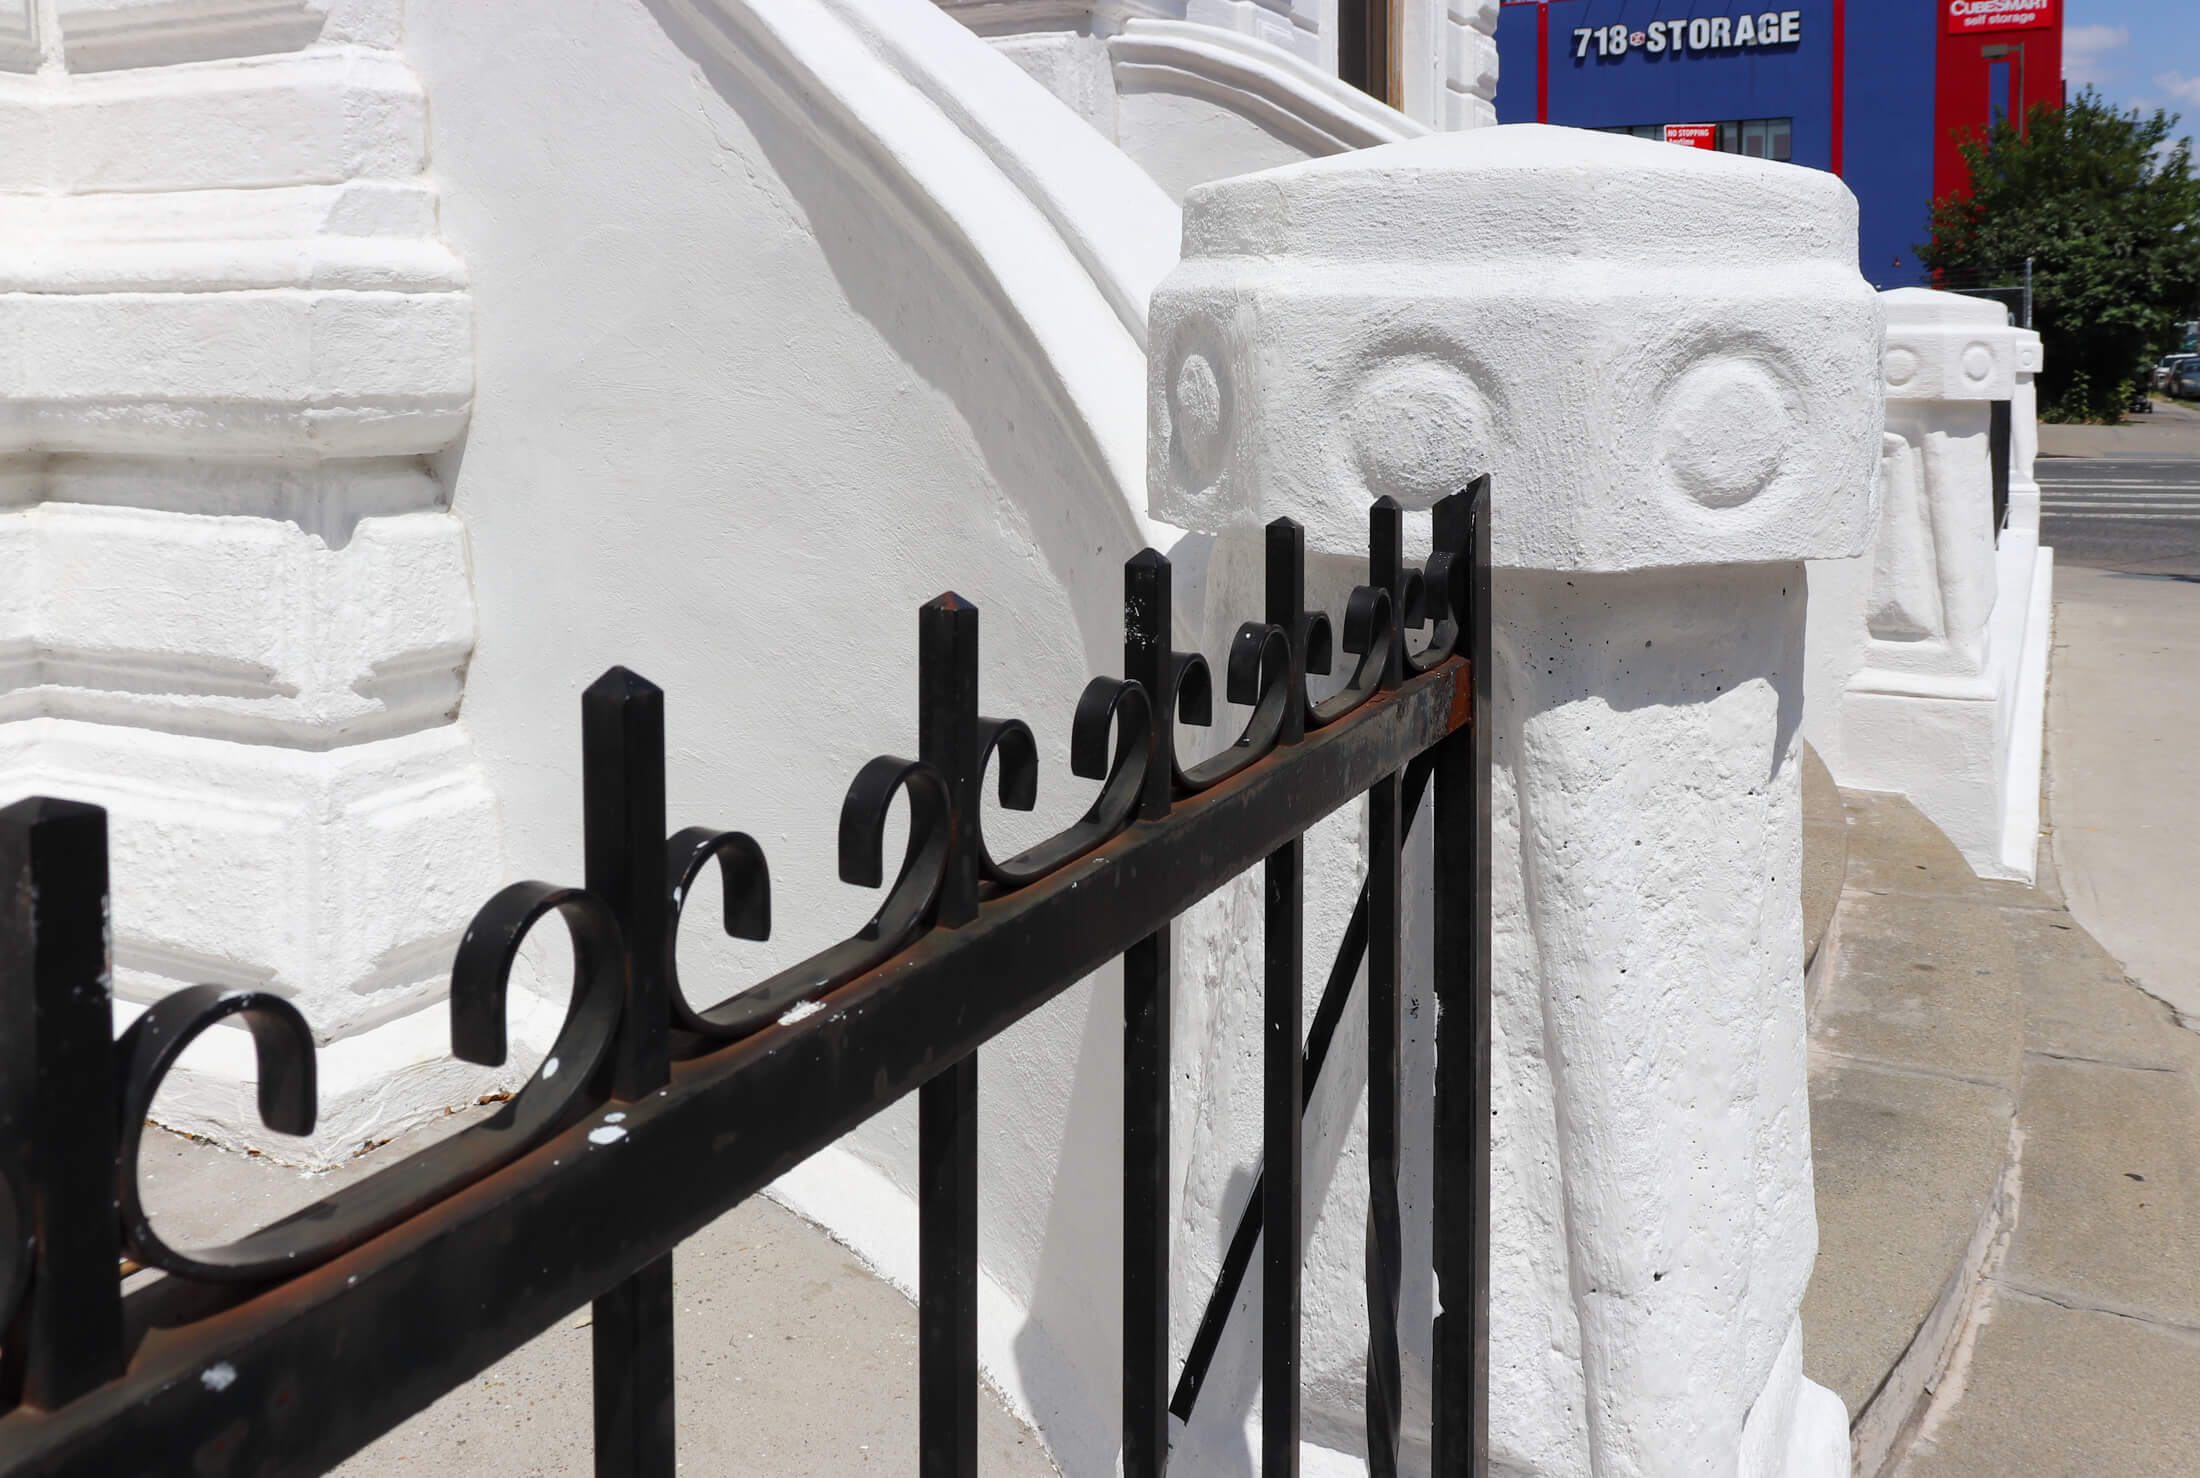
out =
[[[1901,796],[1841,803],[1844,889],[1813,966],[1804,1372],[1848,1405],[1855,1471],[1872,1476],[1945,1368],[2006,1221],[2024,1060],[2006,915],[2039,900],[1982,882]],[[1806,825],[1806,873],[1830,840]]]

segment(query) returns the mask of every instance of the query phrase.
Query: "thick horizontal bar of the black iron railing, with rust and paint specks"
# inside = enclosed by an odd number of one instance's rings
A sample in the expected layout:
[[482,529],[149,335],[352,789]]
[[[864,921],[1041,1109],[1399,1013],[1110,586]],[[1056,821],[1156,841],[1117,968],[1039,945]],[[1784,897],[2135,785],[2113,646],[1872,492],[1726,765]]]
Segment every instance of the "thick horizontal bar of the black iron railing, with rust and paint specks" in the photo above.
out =
[[1410,677],[295,1280],[216,1313],[211,1289],[141,1289],[128,1372],[0,1419],[0,1476],[334,1467],[1362,796],[1470,704],[1463,660]]

